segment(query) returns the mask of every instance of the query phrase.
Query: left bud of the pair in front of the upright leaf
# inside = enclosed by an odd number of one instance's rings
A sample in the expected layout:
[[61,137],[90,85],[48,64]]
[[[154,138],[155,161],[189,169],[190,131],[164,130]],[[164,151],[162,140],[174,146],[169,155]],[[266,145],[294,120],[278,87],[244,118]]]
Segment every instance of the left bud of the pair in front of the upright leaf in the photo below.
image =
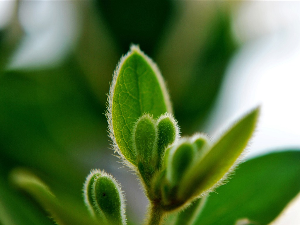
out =
[[141,116],[133,129],[133,147],[137,155],[137,162],[145,167],[157,159],[157,127],[149,114]]

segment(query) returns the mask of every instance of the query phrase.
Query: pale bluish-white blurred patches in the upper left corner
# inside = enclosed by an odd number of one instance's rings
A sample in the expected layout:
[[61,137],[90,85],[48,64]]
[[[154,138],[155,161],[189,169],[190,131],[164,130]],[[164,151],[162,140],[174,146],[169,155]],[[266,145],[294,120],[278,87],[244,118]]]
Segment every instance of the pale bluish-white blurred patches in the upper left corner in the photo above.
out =
[[[0,1],[0,29],[8,25],[15,7],[16,0]],[[17,13],[24,36],[9,69],[55,67],[71,52],[81,25],[72,1],[20,1]]]

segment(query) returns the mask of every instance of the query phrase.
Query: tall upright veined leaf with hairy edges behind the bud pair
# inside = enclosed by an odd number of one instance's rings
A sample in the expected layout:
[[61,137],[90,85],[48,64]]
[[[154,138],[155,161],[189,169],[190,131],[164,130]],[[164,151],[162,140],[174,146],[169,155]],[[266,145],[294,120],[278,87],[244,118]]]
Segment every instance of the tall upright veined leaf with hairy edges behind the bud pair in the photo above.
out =
[[138,46],[121,58],[110,87],[107,119],[113,147],[121,158],[137,165],[132,149],[132,128],[143,113],[157,118],[171,112],[163,78],[153,61]]

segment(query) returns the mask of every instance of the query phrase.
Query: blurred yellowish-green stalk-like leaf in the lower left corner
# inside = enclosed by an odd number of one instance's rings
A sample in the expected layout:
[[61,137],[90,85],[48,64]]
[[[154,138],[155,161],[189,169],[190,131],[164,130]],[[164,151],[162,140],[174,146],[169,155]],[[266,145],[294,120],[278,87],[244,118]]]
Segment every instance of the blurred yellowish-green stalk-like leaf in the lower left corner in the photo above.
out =
[[41,206],[50,213],[50,217],[57,224],[96,224],[85,215],[85,211],[76,211],[62,205],[38,177],[30,171],[16,168],[10,173],[10,180],[14,186],[26,191],[34,197]]

